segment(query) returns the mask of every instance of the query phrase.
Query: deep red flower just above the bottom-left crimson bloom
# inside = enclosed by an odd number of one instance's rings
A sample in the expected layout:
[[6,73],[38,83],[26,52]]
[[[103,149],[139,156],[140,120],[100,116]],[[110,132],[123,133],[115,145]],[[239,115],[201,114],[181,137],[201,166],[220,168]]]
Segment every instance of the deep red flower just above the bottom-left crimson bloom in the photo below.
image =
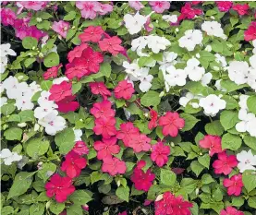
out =
[[66,171],[67,176],[70,178],[78,177],[81,169],[86,166],[86,162],[84,158],[81,158],[79,154],[71,150],[67,153],[60,169],[64,172]]

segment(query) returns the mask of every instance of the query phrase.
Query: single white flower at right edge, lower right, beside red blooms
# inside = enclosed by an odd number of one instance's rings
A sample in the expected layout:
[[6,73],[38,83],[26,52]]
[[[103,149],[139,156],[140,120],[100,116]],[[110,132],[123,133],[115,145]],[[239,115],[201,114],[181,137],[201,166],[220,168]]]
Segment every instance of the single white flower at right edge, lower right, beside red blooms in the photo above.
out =
[[251,153],[251,150],[242,150],[237,154],[237,159],[239,161],[238,169],[240,173],[243,173],[246,170],[256,170],[254,167],[256,165],[256,156]]

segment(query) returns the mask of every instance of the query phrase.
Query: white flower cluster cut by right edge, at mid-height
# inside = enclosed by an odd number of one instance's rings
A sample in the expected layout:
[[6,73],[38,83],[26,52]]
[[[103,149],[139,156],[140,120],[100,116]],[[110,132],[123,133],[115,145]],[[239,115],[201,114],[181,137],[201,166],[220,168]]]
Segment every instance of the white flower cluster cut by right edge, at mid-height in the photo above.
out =
[[241,120],[236,125],[236,129],[238,132],[248,132],[251,137],[256,137],[256,116],[254,113],[249,113],[249,109],[247,107],[248,95],[240,95],[238,102],[240,106],[240,110],[238,113],[238,119]]

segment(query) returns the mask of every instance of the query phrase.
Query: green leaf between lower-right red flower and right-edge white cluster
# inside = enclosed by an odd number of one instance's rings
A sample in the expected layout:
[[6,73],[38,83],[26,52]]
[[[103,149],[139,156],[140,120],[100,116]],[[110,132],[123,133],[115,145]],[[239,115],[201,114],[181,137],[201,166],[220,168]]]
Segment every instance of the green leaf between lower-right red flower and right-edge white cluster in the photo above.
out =
[[242,145],[242,139],[238,135],[225,134],[222,137],[222,149],[238,150]]

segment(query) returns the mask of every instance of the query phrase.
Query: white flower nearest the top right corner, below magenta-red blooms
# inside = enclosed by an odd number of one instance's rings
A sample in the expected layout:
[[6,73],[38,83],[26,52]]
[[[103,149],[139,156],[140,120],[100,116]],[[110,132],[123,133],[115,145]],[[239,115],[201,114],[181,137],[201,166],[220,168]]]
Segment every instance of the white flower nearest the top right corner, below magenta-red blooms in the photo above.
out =
[[204,21],[201,25],[201,30],[205,31],[209,36],[226,39],[224,30],[221,28],[221,24],[217,21]]

